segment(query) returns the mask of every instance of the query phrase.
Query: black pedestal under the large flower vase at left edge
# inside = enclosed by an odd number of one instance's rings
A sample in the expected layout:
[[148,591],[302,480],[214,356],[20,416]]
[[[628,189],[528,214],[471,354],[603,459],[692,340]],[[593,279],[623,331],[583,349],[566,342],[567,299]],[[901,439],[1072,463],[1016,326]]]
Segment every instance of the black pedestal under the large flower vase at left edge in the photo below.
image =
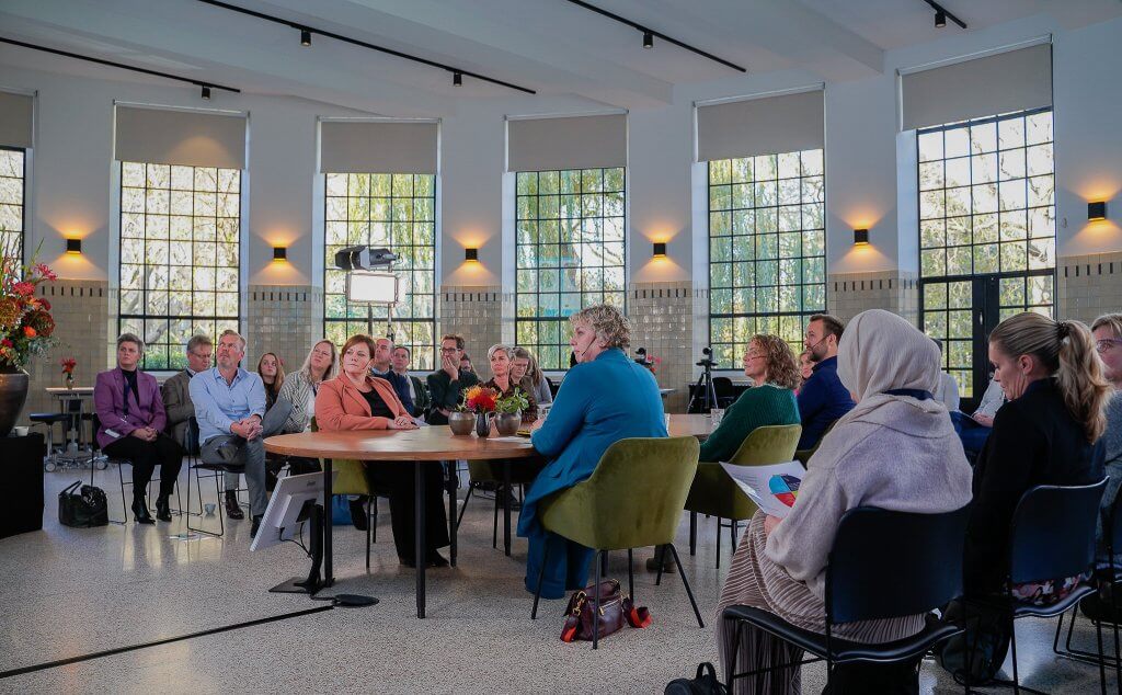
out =
[[0,538],[43,528],[43,435],[0,438]]

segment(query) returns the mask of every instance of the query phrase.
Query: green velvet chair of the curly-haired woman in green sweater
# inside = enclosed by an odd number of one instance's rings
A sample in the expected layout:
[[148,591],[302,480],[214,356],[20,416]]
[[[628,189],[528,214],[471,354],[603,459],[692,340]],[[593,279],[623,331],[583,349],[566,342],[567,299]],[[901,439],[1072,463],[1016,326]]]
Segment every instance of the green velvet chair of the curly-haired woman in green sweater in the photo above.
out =
[[[741,442],[741,448],[728,463],[741,466],[763,466],[794,460],[794,449],[802,436],[800,424],[771,424],[758,427]],[[698,474],[690,486],[686,500],[686,511],[690,513],[690,555],[697,552],[697,518],[707,514],[717,518],[717,568],[720,568],[720,532],[728,519],[733,551],[736,551],[737,522],[752,519],[756,504],[741,492],[733,478],[728,477],[720,464],[698,464]]]

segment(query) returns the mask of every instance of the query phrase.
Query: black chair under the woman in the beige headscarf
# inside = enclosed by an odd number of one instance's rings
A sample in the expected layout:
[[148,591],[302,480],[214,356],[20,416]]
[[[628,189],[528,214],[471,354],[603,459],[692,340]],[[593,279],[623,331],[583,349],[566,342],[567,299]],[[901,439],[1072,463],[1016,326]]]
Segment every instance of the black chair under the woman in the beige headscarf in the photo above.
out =
[[[725,609],[723,619],[737,623],[725,671],[729,689],[735,678],[824,659],[830,689],[830,679],[839,665],[910,661],[922,657],[936,643],[959,634],[962,628],[945,623],[930,612],[962,594],[968,514],[968,505],[941,514],[891,512],[871,506],[846,512],[826,566],[826,633],[797,628],[762,609],[743,605]],[[891,579],[885,580],[886,577]],[[842,623],[918,613],[928,614],[923,629],[901,640],[866,644],[833,634],[834,625]],[[737,674],[736,652],[745,625],[763,630],[817,658]]]

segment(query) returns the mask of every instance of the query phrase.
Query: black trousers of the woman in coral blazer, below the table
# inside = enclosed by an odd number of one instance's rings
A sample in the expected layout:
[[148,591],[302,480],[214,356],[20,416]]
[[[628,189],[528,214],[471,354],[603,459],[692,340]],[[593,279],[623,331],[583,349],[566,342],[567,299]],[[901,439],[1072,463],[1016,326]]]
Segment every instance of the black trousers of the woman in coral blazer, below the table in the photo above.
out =
[[367,461],[366,479],[370,490],[389,497],[390,525],[394,529],[394,546],[397,557],[419,561],[414,558],[416,533],[416,486],[414,468],[421,466],[424,475],[425,551],[433,552],[451,541],[448,538],[448,513],[444,510],[444,468],[433,463]]

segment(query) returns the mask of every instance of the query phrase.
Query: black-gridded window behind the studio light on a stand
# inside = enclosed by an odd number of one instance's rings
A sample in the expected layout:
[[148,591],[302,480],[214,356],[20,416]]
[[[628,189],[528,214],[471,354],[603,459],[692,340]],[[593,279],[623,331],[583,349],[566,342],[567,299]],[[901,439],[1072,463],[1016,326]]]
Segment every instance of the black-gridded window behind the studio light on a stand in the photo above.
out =
[[347,273],[334,267],[348,246],[386,247],[397,255],[401,302],[394,338],[413,354],[413,368],[434,368],[436,331],[436,176],[433,174],[325,174],[323,330],[342,346],[356,333],[386,335],[386,307],[347,301]]

